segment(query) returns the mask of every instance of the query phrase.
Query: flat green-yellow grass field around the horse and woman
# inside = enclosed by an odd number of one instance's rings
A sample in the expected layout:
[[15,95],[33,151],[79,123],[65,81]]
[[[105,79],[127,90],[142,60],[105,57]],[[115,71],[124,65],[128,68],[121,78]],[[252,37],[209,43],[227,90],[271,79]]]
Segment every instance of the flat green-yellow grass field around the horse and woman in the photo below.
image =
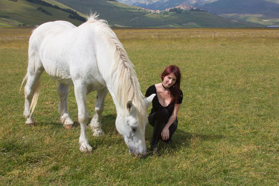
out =
[[[0,29],[0,185],[278,185],[279,30],[116,29],[142,92],[179,65],[179,127],[161,157],[132,157],[105,101],[105,136],[80,153],[80,127],[59,124],[57,82],[45,73],[34,118],[22,116],[30,29]],[[87,99],[93,114],[96,93]],[[70,114],[77,107],[70,88]],[[149,108],[150,109],[150,108]],[[152,128],[146,125],[146,146]]]

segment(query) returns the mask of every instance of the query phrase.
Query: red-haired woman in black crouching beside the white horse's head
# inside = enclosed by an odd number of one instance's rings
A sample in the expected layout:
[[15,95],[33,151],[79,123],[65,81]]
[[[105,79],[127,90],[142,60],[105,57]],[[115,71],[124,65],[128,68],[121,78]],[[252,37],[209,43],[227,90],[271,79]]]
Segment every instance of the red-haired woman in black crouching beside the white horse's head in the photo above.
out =
[[180,90],[181,72],[176,65],[169,65],[161,75],[162,82],[149,86],[145,96],[156,93],[152,101],[149,123],[153,126],[151,151],[158,153],[157,144],[162,139],[167,144],[177,128],[177,113],[183,100]]

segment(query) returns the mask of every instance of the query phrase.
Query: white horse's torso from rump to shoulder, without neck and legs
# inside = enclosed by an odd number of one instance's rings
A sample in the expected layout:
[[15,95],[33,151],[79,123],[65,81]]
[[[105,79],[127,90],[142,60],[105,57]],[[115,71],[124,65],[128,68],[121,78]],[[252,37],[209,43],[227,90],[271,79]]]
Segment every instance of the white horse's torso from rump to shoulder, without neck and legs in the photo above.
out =
[[29,40],[29,58],[36,56],[33,59],[39,59],[45,72],[59,82],[74,84],[83,79],[94,85],[90,89],[100,89],[105,82],[97,65],[95,25],[77,27],[64,21],[42,24]]

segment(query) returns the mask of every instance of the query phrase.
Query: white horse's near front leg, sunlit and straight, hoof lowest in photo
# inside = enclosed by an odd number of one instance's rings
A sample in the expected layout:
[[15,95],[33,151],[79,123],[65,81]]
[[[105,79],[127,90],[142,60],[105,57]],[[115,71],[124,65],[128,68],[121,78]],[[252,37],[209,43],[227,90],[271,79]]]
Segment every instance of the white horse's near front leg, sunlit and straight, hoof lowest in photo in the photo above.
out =
[[89,114],[86,109],[86,93],[87,88],[84,86],[84,82],[74,82],[75,86],[75,99],[77,100],[78,109],[78,121],[80,122],[80,151],[90,152],[92,147],[89,145],[89,141],[86,135],[86,124],[89,120]]

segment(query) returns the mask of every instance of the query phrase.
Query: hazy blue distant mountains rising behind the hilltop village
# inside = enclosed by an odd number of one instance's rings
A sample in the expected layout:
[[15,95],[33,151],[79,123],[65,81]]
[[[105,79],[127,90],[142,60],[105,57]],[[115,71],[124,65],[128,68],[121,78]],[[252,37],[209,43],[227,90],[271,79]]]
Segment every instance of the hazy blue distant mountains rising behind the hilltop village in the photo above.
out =
[[134,6],[164,10],[181,4],[202,8],[231,19],[279,25],[279,0],[119,0]]

